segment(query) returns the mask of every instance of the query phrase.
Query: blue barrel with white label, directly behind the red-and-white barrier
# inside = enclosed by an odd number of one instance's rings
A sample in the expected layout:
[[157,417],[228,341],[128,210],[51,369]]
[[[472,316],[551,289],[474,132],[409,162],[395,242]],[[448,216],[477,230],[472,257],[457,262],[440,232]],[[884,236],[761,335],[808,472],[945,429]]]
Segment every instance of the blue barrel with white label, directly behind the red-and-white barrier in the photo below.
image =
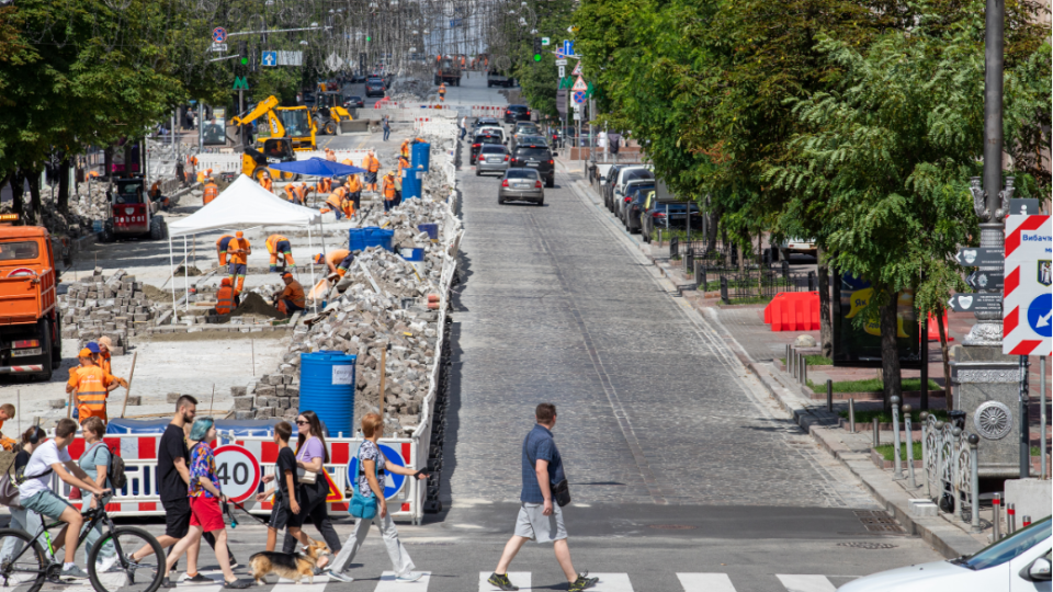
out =
[[299,354],[299,412],[314,411],[333,437],[354,435],[354,363],[343,352]]

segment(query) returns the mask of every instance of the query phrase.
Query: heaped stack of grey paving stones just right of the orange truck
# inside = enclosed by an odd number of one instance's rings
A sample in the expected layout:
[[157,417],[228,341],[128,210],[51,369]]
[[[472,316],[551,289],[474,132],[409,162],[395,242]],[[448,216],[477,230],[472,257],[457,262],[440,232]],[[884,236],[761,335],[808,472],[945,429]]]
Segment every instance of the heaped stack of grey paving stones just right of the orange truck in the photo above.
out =
[[69,285],[58,297],[63,316],[63,337],[80,340],[81,345],[106,335],[113,340],[114,354],[121,355],[127,340],[145,331],[156,315],[155,305],[143,294],[143,284],[124,270],[106,277],[102,267]]

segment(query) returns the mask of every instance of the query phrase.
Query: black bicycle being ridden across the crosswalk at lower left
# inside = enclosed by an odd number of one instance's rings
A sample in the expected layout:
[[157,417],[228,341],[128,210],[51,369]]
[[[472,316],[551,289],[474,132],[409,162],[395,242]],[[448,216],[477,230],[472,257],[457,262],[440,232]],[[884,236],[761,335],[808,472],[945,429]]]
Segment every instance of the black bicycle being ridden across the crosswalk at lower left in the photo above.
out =
[[[144,530],[114,526],[113,520],[106,513],[106,502],[111,497],[97,497],[98,506],[81,512],[84,524],[77,540],[78,549],[97,525],[103,525],[102,536],[88,551],[88,578],[91,587],[97,592],[156,592],[165,579],[165,551],[154,535]],[[53,524],[45,521],[35,536],[18,528],[0,528],[0,585],[20,588],[19,592],[38,592],[45,581],[58,581],[63,561],[59,557],[56,557],[54,562],[48,560],[41,543],[43,537],[47,542],[47,550],[52,551],[47,532],[65,524],[61,521]],[[132,560],[132,554],[144,546],[150,547],[154,555],[138,561]],[[115,555],[113,563],[102,568],[100,560],[109,559],[106,555],[111,549]],[[140,578],[137,577],[138,572],[146,572],[148,576]],[[29,588],[22,589],[26,584]]]

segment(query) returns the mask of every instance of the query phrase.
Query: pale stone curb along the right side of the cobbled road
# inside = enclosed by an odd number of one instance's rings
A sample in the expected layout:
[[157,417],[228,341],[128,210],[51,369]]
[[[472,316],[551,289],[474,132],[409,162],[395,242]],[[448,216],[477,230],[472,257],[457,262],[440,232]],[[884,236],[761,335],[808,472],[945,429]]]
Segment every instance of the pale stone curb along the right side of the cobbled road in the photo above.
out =
[[[569,173],[564,166],[564,172]],[[573,181],[578,184],[578,191],[582,192],[593,203],[595,191],[589,183],[580,180]],[[619,228],[621,230],[621,228]],[[625,232],[629,235],[627,232]],[[630,240],[643,252],[643,244],[636,240],[636,237],[629,235]],[[647,253],[643,253],[647,257]],[[657,264],[655,258],[647,257],[653,264]],[[661,270],[659,267],[659,270]],[[672,287],[676,293],[676,286],[672,286],[672,280],[661,273],[663,284],[668,283],[667,289]],[[830,456],[836,458],[845,468],[852,473],[867,488],[867,491],[874,497],[885,510],[904,526],[908,534],[917,535],[929,544],[937,553],[947,558],[969,555],[984,548],[987,543],[983,535],[973,536],[967,534],[954,523],[949,522],[942,516],[915,516],[909,511],[910,494],[901,488],[897,483],[888,479],[884,470],[879,469],[870,457],[868,449],[852,449],[847,443],[840,440],[841,428],[839,426],[840,417],[837,413],[827,412],[825,403],[815,405],[811,399],[811,389],[793,382],[783,382],[774,373],[774,367],[767,364],[760,364],[754,361],[738,341],[727,331],[718,318],[718,314],[713,308],[703,308],[698,310],[705,316],[706,320],[712,321],[717,329],[718,337],[727,344],[728,350],[738,358],[741,364],[749,369],[760,384],[763,385],[768,394],[792,417],[802,430]],[[837,431],[834,431],[837,430]],[[921,493],[918,493],[920,497]]]

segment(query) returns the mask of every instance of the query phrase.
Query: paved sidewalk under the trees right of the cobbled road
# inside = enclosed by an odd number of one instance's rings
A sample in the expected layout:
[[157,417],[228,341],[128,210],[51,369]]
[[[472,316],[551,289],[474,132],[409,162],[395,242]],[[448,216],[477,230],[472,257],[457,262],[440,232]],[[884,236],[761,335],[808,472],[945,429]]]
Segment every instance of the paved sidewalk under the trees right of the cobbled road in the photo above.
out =
[[[570,167],[565,166],[564,169],[575,180],[575,187],[593,203],[598,202],[597,207],[605,213],[602,201],[600,201],[593,187],[585,181],[581,169],[575,168],[573,164]],[[613,217],[610,220],[612,225],[621,228],[620,223]],[[680,292],[684,300],[690,303],[706,320],[711,321],[714,329],[727,343],[728,349],[744,366],[760,379],[771,397],[779,401],[779,405],[794,418],[794,421],[819,446],[851,470],[908,533],[920,536],[946,557],[971,554],[987,545],[992,520],[989,509],[981,510],[981,522],[987,524],[987,530],[982,534],[970,534],[970,525],[962,523],[952,515],[940,513],[938,516],[917,516],[912,514],[910,499],[931,497],[926,493],[924,471],[921,469],[916,470],[916,482],[919,486],[917,488],[910,487],[908,479],[893,479],[892,470],[879,468],[871,458],[873,434],[870,431],[853,434],[848,431],[847,426],[842,429],[839,425],[838,411],[847,409],[848,402],[846,400],[835,400],[834,411],[828,412],[825,396],[823,397],[824,400],[813,399],[809,389],[797,384],[795,378],[783,372],[783,364],[780,358],[785,355],[786,344],[792,343],[801,334],[811,334],[818,341],[818,331],[772,332],[763,323],[763,305],[725,306],[715,293],[703,294],[690,288],[684,289],[692,284],[692,281],[682,273],[678,261],[669,260],[667,246],[650,246],[644,243],[637,235],[627,235],[626,232],[626,236],[654,262],[661,275],[669,280],[668,289],[673,294]],[[949,345],[961,343],[962,338],[969,332],[973,323],[971,317],[972,315],[967,314],[952,314],[949,317],[949,333],[954,339]],[[879,371],[876,368],[812,366],[808,372],[809,378],[818,385],[825,383],[826,378],[835,382],[873,378],[878,376]],[[1032,439],[1038,444],[1039,405],[1037,395],[1039,375],[1037,358],[1032,363],[1031,374],[1032,391],[1035,395],[1032,398],[1031,406]],[[905,378],[918,377],[919,375],[920,371],[917,369],[903,371]],[[929,379],[941,387],[943,385],[942,357],[938,342],[930,343]],[[918,403],[917,398],[912,397],[907,397],[905,402],[915,406]],[[946,408],[944,398],[935,396],[933,392],[930,392],[929,403],[931,409]],[[857,405],[857,409],[864,409],[868,406],[880,408],[880,399],[874,399],[872,403],[860,402]],[[920,432],[916,432],[916,437],[918,433]],[[891,432],[883,431],[880,435],[882,442],[892,441]],[[906,467],[904,467],[904,475],[907,475]]]

